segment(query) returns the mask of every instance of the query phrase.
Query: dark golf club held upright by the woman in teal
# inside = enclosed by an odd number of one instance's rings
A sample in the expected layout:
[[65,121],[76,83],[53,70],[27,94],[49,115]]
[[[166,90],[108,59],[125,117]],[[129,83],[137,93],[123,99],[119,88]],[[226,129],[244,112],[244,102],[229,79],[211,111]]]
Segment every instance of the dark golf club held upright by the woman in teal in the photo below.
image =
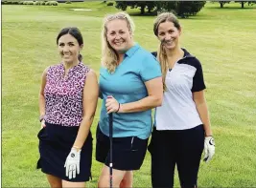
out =
[[109,114],[109,184],[110,184],[110,188],[112,188],[112,175],[113,175],[113,161],[112,161],[112,154],[113,154],[113,114],[110,113]]

